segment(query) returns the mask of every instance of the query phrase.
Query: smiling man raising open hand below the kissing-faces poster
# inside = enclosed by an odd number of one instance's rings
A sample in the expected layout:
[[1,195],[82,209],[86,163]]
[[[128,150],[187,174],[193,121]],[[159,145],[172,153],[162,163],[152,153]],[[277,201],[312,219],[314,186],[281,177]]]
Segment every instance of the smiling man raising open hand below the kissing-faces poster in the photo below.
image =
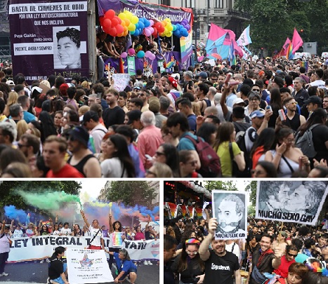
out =
[[249,283],[263,283],[267,279],[263,273],[273,273],[273,270],[280,266],[282,249],[277,247],[275,250],[271,250],[272,244],[272,237],[268,234],[263,234],[260,242],[260,248],[254,251],[251,259],[252,269],[249,271],[249,273],[251,273]]

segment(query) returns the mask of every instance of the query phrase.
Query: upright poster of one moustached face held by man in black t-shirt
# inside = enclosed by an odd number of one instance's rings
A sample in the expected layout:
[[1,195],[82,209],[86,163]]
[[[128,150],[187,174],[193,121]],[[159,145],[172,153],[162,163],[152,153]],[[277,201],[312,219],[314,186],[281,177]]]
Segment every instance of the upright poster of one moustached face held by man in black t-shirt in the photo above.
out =
[[247,204],[241,191],[212,191],[213,217],[218,222],[215,239],[247,238]]

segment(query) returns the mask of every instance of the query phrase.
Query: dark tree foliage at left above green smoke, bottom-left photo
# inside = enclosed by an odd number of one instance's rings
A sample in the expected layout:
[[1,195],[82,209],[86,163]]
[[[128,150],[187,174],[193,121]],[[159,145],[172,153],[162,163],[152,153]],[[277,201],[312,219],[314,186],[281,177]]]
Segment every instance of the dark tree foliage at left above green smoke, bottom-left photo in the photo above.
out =
[[27,204],[17,191],[29,193],[44,193],[44,191],[64,191],[66,194],[79,195],[81,189],[80,182],[74,181],[36,181],[36,182],[1,182],[0,184],[0,210],[4,214],[4,206],[14,205],[15,208],[27,210],[31,205]]

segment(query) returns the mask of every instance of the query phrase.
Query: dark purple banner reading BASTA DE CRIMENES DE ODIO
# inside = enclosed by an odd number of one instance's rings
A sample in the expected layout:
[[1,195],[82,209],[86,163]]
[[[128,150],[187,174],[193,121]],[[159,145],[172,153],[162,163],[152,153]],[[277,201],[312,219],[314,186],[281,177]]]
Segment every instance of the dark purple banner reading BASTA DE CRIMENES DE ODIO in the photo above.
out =
[[86,20],[87,1],[10,0],[14,74],[28,82],[89,76]]

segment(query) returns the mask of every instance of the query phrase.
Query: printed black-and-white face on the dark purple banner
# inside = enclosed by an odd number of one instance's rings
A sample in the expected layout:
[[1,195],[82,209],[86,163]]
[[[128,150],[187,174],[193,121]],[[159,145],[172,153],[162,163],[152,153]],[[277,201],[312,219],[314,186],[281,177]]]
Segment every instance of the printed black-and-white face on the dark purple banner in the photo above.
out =
[[70,69],[81,67],[80,50],[70,37],[64,36],[60,38],[57,49],[61,65],[65,65]]

